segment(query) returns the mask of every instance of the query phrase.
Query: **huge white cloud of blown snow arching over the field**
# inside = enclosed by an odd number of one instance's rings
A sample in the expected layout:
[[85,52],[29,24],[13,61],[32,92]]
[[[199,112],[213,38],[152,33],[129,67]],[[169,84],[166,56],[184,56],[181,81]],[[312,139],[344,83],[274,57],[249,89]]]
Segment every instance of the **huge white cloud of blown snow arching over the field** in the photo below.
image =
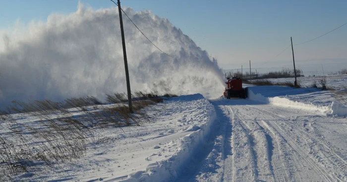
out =
[[[205,50],[165,18],[150,11],[124,11],[173,56],[151,45],[124,16],[132,91],[221,95],[223,73]],[[93,10],[79,3],[74,13],[51,14],[47,22],[30,23],[25,32],[3,34],[0,45],[0,106],[11,100],[86,95],[103,100],[106,93],[126,91],[117,8]]]

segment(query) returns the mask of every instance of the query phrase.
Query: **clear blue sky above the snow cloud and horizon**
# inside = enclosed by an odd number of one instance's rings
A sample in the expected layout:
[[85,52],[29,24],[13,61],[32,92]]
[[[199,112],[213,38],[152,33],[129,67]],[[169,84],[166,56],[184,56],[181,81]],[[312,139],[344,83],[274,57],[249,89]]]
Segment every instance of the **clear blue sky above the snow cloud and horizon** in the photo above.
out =
[[[110,0],[81,0],[94,9]],[[0,0],[0,30],[15,22],[45,21],[49,14],[76,11],[78,0]],[[169,19],[225,69],[290,66],[290,45],[318,37],[347,22],[347,0],[122,0],[136,11],[150,9]],[[140,27],[141,28],[141,27]],[[347,25],[310,43],[294,46],[298,65],[347,65]],[[300,62],[302,61],[302,62]],[[319,63],[320,64],[320,63]],[[254,66],[253,66],[254,65]],[[347,67],[347,66],[342,66]]]

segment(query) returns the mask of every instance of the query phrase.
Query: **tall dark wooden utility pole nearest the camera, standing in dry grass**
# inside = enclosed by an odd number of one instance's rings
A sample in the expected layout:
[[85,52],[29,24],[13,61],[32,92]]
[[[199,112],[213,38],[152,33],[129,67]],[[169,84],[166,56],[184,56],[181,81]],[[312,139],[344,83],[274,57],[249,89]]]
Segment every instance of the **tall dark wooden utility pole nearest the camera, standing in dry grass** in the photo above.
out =
[[124,56],[126,89],[128,91],[129,111],[130,111],[130,113],[133,113],[133,111],[132,111],[132,104],[131,104],[131,91],[130,91],[130,79],[129,79],[128,61],[127,61],[127,58],[126,58],[126,49],[125,49],[123,19],[121,17],[121,7],[120,7],[119,0],[118,0],[118,11],[119,11],[119,23],[120,23],[120,32],[121,32],[121,42],[122,42],[122,45],[123,45],[123,56]]

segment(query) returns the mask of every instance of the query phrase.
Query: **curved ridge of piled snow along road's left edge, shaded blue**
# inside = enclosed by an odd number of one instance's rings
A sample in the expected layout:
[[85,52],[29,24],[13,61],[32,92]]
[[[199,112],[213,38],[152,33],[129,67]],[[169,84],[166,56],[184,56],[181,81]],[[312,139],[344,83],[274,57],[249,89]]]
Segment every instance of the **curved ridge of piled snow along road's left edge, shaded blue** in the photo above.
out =
[[172,141],[177,144],[178,149],[168,159],[149,164],[146,171],[137,171],[129,174],[127,179],[119,182],[168,182],[174,180],[184,170],[184,166],[190,160],[192,155],[198,151],[199,145],[206,142],[206,138],[211,134],[212,127],[216,122],[216,110],[214,106],[201,94],[181,96],[181,100],[199,99],[204,103],[205,111],[201,112],[204,116],[202,121],[189,126],[185,131],[192,131],[188,135],[181,137],[178,141]]

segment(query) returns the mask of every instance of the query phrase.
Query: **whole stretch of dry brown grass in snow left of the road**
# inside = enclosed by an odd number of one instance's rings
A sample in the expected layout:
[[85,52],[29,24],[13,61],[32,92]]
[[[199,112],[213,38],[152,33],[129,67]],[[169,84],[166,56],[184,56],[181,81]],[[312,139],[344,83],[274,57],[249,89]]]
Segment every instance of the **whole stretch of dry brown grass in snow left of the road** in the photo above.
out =
[[[135,92],[133,98],[133,113],[129,112],[124,93],[107,95],[107,101],[114,105],[103,105],[95,97],[63,102],[13,101],[6,111],[0,111],[0,175],[10,177],[28,172],[38,162],[50,166],[83,157],[87,144],[99,140],[96,129],[150,122],[151,117],[143,108],[164,100],[156,91]],[[18,122],[13,113],[36,121]]]

